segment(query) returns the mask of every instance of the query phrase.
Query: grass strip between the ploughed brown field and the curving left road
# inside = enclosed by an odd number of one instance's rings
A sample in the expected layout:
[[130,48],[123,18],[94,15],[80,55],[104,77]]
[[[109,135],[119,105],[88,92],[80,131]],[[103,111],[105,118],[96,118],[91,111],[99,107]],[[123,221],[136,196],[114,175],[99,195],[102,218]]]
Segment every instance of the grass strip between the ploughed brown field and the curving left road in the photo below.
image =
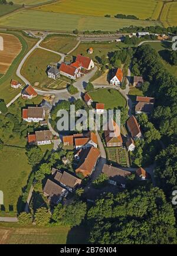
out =
[[[4,32],[3,32],[4,33]],[[14,36],[18,37],[19,41],[22,44],[22,50],[19,55],[15,58],[14,62],[12,62],[11,66],[9,67],[6,75],[0,77],[0,95],[1,98],[4,98],[5,103],[9,103],[17,94],[19,94],[20,89],[13,89],[11,88],[11,79],[16,79],[17,81],[21,81],[16,75],[16,71],[18,68],[19,63],[21,62],[22,57],[37,43],[38,39],[28,38],[25,37],[20,32],[8,32],[7,34],[13,34]]]

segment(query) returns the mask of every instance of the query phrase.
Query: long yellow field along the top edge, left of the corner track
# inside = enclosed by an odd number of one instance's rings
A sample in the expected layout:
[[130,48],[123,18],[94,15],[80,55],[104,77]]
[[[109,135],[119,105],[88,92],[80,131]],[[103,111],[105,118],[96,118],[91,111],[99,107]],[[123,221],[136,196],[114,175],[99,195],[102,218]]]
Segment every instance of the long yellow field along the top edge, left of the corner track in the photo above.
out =
[[[160,2],[162,4],[162,2]],[[41,11],[61,12],[66,14],[83,14],[90,16],[104,16],[106,14],[136,15],[140,19],[158,17],[160,14],[159,2],[155,0],[65,0],[54,4],[44,5],[35,9]],[[157,13],[157,14],[155,14]]]

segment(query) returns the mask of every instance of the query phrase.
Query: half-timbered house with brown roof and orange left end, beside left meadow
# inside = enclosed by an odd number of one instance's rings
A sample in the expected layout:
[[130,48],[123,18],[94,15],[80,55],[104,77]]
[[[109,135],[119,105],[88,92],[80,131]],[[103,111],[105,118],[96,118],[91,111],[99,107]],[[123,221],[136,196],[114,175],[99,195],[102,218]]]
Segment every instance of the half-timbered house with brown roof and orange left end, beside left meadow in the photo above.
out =
[[45,113],[42,107],[28,107],[22,110],[22,119],[30,122],[39,122],[44,120]]

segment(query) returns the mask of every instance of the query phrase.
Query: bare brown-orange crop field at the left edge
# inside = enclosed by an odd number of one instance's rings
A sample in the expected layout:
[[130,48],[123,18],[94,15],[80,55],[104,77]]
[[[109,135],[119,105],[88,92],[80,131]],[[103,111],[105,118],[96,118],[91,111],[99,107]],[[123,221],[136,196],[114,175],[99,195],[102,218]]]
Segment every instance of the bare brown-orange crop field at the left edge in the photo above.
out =
[[0,46],[0,73],[5,74],[15,57],[21,52],[22,45],[13,35],[0,34],[3,41]]

